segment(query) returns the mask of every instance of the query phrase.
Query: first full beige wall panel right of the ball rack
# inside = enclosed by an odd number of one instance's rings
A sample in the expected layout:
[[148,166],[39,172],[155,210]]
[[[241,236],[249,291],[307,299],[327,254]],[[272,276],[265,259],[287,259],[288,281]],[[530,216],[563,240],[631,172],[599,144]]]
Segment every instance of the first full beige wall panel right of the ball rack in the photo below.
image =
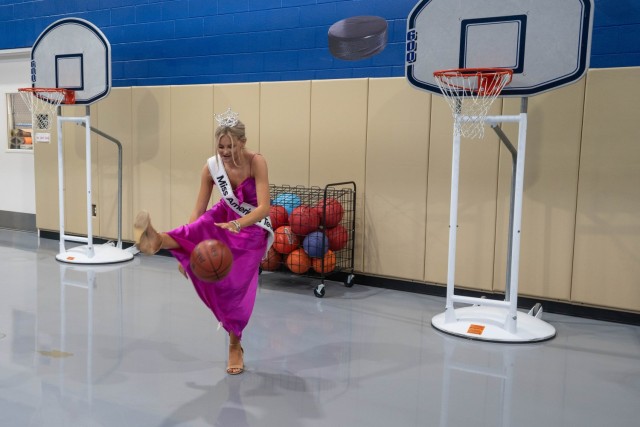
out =
[[424,280],[431,95],[371,80],[368,108],[364,269]]

